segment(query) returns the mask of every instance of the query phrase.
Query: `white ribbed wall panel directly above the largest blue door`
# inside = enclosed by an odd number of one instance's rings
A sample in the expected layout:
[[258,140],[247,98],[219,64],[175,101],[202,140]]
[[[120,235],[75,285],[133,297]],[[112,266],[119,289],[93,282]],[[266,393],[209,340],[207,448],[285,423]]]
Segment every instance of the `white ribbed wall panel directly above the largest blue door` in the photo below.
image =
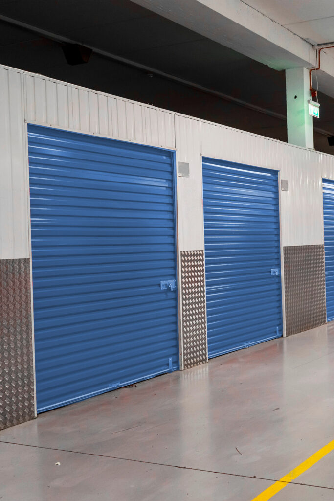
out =
[[172,112],[44,77],[24,75],[24,78],[30,123],[175,147]]

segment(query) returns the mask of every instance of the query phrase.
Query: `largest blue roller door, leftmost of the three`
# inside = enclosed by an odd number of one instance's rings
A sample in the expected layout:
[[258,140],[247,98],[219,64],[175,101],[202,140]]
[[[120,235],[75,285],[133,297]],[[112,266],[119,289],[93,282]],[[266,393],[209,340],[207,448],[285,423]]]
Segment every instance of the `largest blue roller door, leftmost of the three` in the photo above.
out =
[[159,148],[28,134],[41,412],[178,368],[174,174]]

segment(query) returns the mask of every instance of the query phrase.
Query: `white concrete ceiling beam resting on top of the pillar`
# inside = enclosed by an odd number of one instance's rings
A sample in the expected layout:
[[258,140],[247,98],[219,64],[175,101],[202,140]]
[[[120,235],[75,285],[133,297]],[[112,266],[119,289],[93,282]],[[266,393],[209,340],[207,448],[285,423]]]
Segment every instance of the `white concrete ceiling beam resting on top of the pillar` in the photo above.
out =
[[[241,0],[132,2],[275,70],[316,66],[316,51],[310,43]],[[324,52],[319,91],[334,97],[334,59]]]

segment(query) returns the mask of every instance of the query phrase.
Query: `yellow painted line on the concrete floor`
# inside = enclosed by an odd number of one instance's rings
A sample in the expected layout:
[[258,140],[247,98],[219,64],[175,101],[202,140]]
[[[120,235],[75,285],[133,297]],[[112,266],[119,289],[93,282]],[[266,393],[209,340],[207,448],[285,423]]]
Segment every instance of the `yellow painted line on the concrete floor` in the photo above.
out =
[[334,440],[327,443],[324,447],[319,449],[317,452],[309,456],[305,461],[299,464],[296,468],[289,471],[286,475],[282,476],[277,482],[273,483],[267,489],[263,490],[258,496],[254,497],[251,501],[267,501],[272,496],[277,494],[280,490],[282,490],[289,482],[297,478],[297,476],[301,475],[308,468],[313,466],[319,459],[328,454],[331,450],[334,449]]

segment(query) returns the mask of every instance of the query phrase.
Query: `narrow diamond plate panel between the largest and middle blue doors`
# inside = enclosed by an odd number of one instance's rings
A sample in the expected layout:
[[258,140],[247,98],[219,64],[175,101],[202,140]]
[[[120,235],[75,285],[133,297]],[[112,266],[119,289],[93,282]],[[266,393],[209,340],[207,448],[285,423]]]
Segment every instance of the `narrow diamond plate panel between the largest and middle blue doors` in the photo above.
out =
[[208,360],[204,250],[181,251],[181,287],[183,364],[188,369]]

